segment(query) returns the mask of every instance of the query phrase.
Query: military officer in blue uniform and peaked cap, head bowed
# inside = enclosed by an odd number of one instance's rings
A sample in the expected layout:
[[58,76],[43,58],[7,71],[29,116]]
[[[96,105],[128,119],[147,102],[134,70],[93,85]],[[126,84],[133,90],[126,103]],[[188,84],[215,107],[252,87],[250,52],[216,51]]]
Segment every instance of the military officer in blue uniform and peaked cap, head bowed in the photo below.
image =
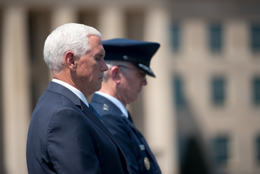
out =
[[132,173],[161,173],[160,167],[142,134],[136,129],[126,105],[138,99],[146,75],[155,77],[150,61],[159,43],[130,39],[102,41],[105,62],[102,88],[95,92],[91,105],[122,148]]

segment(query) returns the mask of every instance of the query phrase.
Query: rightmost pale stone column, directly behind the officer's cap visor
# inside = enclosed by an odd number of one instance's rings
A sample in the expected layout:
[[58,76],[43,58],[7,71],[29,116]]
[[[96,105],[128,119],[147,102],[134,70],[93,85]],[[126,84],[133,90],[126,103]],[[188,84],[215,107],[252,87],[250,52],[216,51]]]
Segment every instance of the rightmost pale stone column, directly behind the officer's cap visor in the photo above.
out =
[[[149,9],[145,15],[144,40],[160,43],[151,60],[156,78],[148,77],[144,92],[145,137],[154,152],[162,173],[176,174],[177,140],[173,103],[171,49],[169,47],[169,17],[160,8]],[[170,97],[169,97],[170,96]],[[172,96],[172,97],[171,97]]]

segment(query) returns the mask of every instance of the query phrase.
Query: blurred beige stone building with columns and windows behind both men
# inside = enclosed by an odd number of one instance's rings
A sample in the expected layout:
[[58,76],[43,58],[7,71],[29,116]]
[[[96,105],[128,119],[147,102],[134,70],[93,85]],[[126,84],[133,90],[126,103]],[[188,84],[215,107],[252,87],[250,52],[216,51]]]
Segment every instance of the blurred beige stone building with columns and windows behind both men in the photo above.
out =
[[102,40],[161,44],[157,77],[128,109],[163,173],[260,173],[260,2],[252,0],[0,0],[0,173],[27,173],[31,114],[52,79],[44,41],[70,22],[97,28]]

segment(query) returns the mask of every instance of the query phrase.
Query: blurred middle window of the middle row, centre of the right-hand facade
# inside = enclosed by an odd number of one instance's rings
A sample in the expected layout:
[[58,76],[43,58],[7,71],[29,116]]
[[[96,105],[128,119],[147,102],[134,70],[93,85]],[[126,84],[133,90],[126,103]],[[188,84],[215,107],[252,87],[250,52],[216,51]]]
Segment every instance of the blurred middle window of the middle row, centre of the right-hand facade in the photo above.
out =
[[212,102],[214,105],[223,105],[225,101],[225,80],[223,77],[214,77],[212,85]]

